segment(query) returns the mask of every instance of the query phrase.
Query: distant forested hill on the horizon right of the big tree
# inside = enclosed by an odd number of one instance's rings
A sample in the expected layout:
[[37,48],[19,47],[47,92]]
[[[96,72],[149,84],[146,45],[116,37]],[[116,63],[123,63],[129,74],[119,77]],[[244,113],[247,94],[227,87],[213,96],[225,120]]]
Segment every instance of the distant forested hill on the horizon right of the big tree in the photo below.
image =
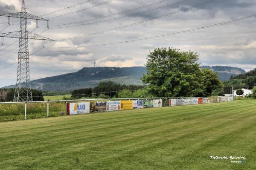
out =
[[244,69],[230,66],[201,66],[201,68],[208,68],[211,69],[213,72],[217,72],[221,81],[228,81],[230,80],[231,76],[245,73]]

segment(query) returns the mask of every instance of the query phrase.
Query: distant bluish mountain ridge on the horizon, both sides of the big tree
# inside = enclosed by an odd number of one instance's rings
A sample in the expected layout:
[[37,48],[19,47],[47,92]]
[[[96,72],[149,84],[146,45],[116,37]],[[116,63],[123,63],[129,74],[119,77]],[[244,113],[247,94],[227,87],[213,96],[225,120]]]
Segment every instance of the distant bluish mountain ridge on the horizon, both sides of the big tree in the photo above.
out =
[[[202,66],[209,68],[219,75],[221,81],[229,80],[231,75],[245,73],[243,69],[230,66]],[[70,91],[86,87],[95,87],[102,81],[113,81],[116,84],[134,84],[142,85],[140,80],[143,73],[146,73],[146,67],[84,67],[77,72],[64,75],[56,75],[47,78],[41,78],[31,81],[33,89],[42,91]],[[14,87],[8,86],[7,88]]]

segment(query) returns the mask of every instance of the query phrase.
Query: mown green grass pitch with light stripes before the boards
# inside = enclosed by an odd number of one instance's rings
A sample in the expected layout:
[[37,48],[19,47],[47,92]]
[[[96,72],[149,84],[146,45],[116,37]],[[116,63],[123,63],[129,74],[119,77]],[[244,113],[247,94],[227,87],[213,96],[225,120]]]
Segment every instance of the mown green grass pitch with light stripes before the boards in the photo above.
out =
[[[255,170],[256,101],[0,122],[3,170]],[[245,156],[245,164],[210,160]]]

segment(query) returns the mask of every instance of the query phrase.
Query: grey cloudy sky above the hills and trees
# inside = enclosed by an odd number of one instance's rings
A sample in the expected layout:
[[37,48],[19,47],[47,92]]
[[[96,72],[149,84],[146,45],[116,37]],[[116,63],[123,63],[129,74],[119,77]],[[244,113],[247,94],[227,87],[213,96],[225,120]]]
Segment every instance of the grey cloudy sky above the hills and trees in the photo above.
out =
[[[203,5],[204,2],[207,3]],[[246,71],[256,68],[256,17],[195,32],[117,43],[247,17],[256,14],[256,0],[25,0],[25,3],[28,13],[50,20],[50,29],[44,21],[36,28],[36,23],[28,20],[28,30],[56,40],[45,43],[44,49],[40,40],[29,40],[32,80],[91,67],[94,60],[96,66],[144,66],[149,50],[157,47],[198,52],[201,65],[236,66]],[[0,0],[1,14],[20,12],[20,8],[20,0]],[[0,32],[18,30],[18,19],[11,18],[8,26],[8,18],[0,17]],[[77,38],[69,39],[72,37]],[[109,43],[116,44],[97,46]],[[0,46],[0,87],[16,82],[17,47],[14,38],[4,38],[4,45]]]

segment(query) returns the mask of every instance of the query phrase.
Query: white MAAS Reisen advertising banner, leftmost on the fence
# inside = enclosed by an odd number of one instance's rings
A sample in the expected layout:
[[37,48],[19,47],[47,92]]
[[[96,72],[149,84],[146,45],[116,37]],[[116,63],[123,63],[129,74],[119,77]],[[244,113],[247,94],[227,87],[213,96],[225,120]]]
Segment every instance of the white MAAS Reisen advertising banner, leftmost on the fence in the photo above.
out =
[[67,103],[67,115],[79,115],[90,113],[90,102]]

